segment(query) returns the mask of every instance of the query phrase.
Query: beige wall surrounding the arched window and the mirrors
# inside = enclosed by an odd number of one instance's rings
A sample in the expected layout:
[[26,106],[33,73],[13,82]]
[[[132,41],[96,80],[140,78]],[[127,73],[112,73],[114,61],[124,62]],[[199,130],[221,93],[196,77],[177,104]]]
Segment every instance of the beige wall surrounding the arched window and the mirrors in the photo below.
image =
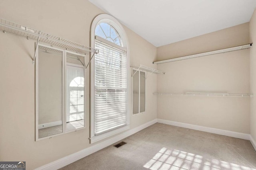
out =
[[[102,13],[87,0],[0,0],[0,18],[87,46],[91,22]],[[156,60],[156,47],[127,27],[124,29],[130,44],[130,64],[156,68],[152,64]],[[90,147],[89,70],[85,75],[86,129],[35,142],[34,43],[0,32],[0,161],[23,160],[28,170]],[[156,74],[146,81],[146,113],[132,116],[130,105],[130,129],[156,118],[156,96],[152,95],[156,92]],[[130,102],[131,96],[132,91]]]

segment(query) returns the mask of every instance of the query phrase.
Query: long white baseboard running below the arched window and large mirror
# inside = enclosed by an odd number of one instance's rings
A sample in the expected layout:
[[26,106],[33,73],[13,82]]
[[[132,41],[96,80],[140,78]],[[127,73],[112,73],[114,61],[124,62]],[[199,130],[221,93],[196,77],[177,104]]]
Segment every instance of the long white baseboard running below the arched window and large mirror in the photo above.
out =
[[49,164],[46,164],[44,166],[40,166],[39,168],[36,168],[36,170],[56,170],[56,169],[62,168],[68,164],[71,164],[79,159],[84,158],[85,156],[88,156],[89,154],[97,152],[100,149],[108,147],[108,146],[130,136],[130,135],[133,135],[134,133],[137,133],[138,131],[141,131],[142,129],[145,129],[146,127],[149,127],[150,125],[153,125],[155,123],[157,123],[157,119],[149,121],[143,125],[140,125],[134,129],[131,129],[129,131],[126,131],[116,137],[113,137],[111,139],[103,141],[102,143],[99,143],[97,145],[93,145],[92,147],[88,147],[86,149],[80,150],[74,154],[70,154],[68,156],[65,156],[64,158],[60,158],[60,159],[58,159],[54,162],[51,162]]

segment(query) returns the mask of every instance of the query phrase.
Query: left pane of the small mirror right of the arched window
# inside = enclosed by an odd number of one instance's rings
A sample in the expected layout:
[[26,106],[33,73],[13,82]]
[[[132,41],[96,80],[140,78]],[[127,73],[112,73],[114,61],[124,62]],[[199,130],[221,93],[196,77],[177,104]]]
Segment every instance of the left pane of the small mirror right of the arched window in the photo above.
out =
[[139,113],[139,71],[132,70],[132,114]]

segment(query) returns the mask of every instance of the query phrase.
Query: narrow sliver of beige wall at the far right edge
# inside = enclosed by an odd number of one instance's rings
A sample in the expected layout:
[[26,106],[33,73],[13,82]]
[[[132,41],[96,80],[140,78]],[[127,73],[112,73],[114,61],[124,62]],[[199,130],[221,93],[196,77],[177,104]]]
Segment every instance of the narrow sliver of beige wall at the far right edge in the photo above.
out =
[[[256,10],[250,20],[250,42],[256,43]],[[250,48],[250,89],[252,94],[256,94],[256,47]],[[254,141],[256,141],[256,99],[251,98],[250,132]]]

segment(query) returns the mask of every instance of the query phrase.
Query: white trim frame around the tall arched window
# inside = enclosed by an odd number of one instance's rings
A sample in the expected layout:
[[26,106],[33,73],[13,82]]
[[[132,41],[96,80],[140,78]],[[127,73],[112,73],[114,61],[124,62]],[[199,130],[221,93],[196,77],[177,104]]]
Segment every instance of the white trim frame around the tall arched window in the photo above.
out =
[[[94,135],[94,59],[92,59],[91,67],[90,67],[90,143],[95,143],[97,141],[100,141],[102,139],[105,139],[107,137],[110,137],[112,135],[115,135],[117,133],[120,133],[122,131],[125,131],[130,128],[130,54],[129,54],[129,43],[128,38],[126,35],[126,32],[120,22],[116,20],[114,17],[108,15],[108,14],[100,14],[94,18],[91,25],[90,30],[90,46],[92,48],[95,48],[95,29],[96,26],[99,23],[108,23],[116,29],[118,34],[120,35],[120,38],[122,39],[122,47],[119,45],[116,45],[115,43],[112,43],[102,37],[103,43],[107,43],[108,45],[112,45],[112,47],[116,47],[118,49],[122,49],[123,51],[126,51],[126,57],[127,57],[127,101],[128,101],[128,107],[127,107],[127,125],[124,127],[120,127],[118,129],[114,129],[112,131],[103,133],[101,135]],[[118,46],[118,47],[117,47]],[[92,57],[92,56],[91,56]]]

